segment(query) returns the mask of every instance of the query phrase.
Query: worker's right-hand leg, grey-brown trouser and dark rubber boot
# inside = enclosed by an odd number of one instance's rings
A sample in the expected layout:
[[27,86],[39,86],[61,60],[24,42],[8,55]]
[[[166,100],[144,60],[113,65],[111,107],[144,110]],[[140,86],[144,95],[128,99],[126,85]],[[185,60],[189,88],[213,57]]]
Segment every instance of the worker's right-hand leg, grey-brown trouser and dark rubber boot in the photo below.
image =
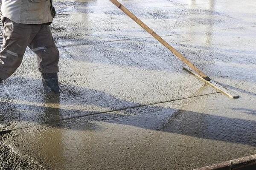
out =
[[46,94],[58,95],[59,51],[49,26],[41,25],[40,31],[29,44],[29,48],[38,56],[38,69],[42,75]]

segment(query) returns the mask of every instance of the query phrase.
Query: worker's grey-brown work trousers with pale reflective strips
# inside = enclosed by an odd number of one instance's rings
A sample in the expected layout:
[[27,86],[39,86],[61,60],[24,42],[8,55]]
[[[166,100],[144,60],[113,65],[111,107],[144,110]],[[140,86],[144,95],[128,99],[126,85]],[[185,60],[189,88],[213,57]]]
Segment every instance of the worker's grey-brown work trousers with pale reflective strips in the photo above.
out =
[[2,17],[4,38],[0,52],[0,79],[10,77],[20,66],[26,48],[37,54],[41,73],[58,73],[59,51],[48,25],[17,24]]

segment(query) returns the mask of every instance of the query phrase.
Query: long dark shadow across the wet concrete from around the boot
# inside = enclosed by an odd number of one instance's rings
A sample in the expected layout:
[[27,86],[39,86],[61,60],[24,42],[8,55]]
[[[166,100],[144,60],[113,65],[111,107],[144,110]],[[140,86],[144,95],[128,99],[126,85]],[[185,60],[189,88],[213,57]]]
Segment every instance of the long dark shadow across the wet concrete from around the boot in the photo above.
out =
[[[22,80],[15,77],[13,79],[17,80],[15,82],[34,81],[35,84],[41,84],[41,81],[35,79]],[[8,125],[15,122],[23,126],[45,124],[57,128],[99,130],[99,127],[93,123],[98,121],[256,146],[254,135],[256,122],[253,120],[234,119],[156,105],[143,106],[139,103],[116,99],[101,91],[75,86],[61,85],[62,95],[55,98],[40,94],[38,88],[26,87],[25,90],[16,90],[20,92],[13,99],[3,97],[4,93],[1,94],[1,124]],[[38,104],[26,103],[24,96],[32,99],[37,93],[40,95],[34,101]],[[12,102],[15,99],[20,103]],[[65,106],[67,104],[70,108]],[[74,109],[76,105],[79,109]],[[95,111],[97,109],[90,108],[90,105],[105,108],[105,111]],[[233,108],[233,110],[255,112],[243,108]]]

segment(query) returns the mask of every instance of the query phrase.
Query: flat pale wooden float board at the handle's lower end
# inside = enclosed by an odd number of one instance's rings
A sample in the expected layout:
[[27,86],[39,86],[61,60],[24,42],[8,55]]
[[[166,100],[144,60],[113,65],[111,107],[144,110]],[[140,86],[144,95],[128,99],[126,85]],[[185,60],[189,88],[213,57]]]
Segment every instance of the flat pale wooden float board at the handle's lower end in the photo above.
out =
[[209,83],[210,85],[212,85],[214,88],[218,89],[219,91],[223,92],[224,94],[227,94],[227,96],[230,96],[233,99],[237,99],[239,98],[239,96],[235,93],[233,93],[232,91],[228,90],[227,88],[224,88],[223,86],[217,84],[216,82],[214,82],[213,80],[207,81],[205,79],[203,79],[202,77],[198,76],[197,74],[195,74],[194,72],[188,70],[187,68],[183,67],[186,71],[189,71],[190,73],[194,74],[196,77],[204,80],[205,82]]

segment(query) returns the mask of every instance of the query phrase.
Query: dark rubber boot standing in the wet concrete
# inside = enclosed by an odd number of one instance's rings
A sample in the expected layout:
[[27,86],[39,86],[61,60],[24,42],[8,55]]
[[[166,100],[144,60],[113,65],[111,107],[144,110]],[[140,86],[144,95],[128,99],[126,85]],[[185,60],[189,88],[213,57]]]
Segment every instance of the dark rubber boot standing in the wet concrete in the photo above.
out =
[[52,74],[44,74],[41,73],[44,91],[47,95],[60,95],[59,87],[58,87],[58,75],[57,73]]

